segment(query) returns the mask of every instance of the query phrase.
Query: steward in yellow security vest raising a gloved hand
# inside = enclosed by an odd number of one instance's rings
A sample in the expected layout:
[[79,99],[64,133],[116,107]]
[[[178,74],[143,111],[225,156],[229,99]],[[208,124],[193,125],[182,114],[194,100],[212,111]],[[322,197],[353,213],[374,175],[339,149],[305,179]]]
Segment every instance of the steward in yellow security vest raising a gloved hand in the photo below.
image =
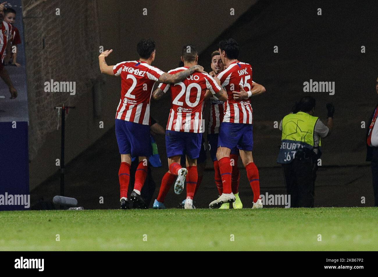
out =
[[281,147],[277,162],[282,164],[290,207],[314,207],[314,188],[321,138],[330,134],[335,107],[327,104],[327,125],[313,116],[316,101],[305,96],[293,112],[280,122]]

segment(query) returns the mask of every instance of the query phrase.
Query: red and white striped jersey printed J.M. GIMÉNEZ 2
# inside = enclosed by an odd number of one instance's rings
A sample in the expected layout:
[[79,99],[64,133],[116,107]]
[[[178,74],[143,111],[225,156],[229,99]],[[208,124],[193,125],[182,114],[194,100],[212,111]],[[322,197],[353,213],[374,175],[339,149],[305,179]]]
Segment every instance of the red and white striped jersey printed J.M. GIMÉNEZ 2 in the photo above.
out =
[[123,61],[113,67],[113,73],[121,76],[116,118],[149,125],[153,84],[164,71],[141,61]]

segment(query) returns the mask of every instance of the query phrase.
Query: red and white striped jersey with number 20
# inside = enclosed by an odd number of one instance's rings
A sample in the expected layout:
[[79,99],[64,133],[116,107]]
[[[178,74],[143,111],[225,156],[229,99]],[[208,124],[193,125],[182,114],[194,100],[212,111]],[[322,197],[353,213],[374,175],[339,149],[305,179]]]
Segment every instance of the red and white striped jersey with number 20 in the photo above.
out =
[[[169,70],[168,73],[175,74],[177,72],[188,69],[189,67],[178,67]],[[180,83],[170,86],[168,84],[160,84],[160,89],[166,93],[171,90],[172,104],[170,108],[167,130],[177,132],[203,133],[203,106],[206,90],[214,95],[220,92],[222,88],[207,73],[194,72],[192,75]]]

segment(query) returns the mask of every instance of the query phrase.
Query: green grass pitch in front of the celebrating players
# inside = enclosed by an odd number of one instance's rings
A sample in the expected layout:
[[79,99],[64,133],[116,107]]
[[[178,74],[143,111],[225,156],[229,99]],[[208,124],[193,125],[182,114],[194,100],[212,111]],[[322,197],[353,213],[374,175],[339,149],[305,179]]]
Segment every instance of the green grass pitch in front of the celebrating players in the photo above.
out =
[[0,250],[376,251],[377,222],[373,207],[3,211]]

